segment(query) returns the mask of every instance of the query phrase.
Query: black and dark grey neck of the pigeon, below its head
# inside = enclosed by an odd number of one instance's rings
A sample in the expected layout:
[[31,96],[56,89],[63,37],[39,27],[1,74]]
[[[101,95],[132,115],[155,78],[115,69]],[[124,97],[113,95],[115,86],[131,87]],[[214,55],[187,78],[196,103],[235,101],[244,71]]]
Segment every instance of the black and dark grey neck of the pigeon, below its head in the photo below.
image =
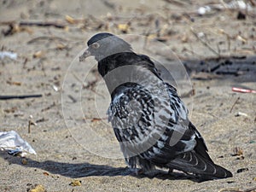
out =
[[132,52],[110,55],[98,62],[98,71],[105,80],[110,95],[119,86],[134,86],[162,81],[154,63],[144,55]]

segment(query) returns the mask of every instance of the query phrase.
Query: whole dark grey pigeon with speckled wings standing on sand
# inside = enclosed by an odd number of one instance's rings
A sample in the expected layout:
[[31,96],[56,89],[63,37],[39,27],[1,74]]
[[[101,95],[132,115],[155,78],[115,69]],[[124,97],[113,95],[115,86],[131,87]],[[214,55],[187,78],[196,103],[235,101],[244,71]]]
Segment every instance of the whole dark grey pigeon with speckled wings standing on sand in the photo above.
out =
[[202,180],[232,177],[216,165],[207,145],[188,117],[174,86],[161,78],[148,55],[139,55],[122,38],[108,32],[94,35],[79,61],[92,55],[105,80],[115,137],[131,169],[150,175],[167,169]]

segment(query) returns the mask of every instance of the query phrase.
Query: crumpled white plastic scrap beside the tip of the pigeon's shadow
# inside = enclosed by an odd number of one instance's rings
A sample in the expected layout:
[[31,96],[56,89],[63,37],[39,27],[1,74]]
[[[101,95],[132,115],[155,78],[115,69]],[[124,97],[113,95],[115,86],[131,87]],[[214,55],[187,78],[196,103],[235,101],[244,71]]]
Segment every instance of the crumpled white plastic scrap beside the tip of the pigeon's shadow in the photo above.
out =
[[16,131],[0,132],[0,148],[9,150],[9,154],[20,154],[24,156],[27,153],[37,154],[29,143],[23,140]]

